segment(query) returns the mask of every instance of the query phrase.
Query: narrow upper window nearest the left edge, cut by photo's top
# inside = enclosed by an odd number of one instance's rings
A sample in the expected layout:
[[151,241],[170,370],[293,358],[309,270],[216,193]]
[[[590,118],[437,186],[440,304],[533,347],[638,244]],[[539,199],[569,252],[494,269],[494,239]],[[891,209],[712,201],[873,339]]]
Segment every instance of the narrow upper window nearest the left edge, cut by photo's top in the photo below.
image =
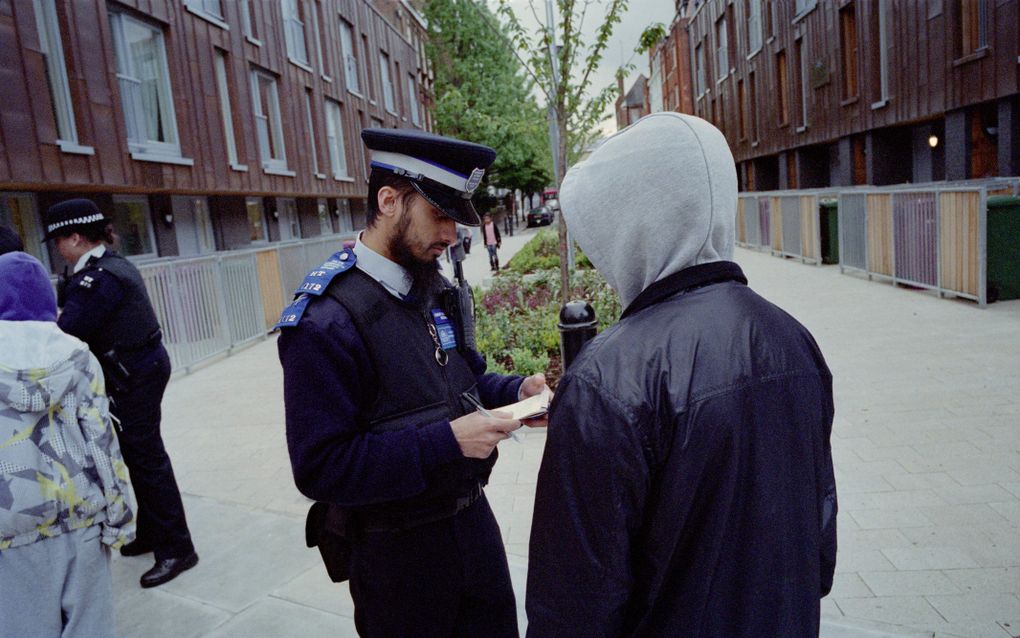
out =
[[46,81],[50,88],[50,106],[56,120],[57,145],[70,153],[92,155],[95,150],[89,146],[79,146],[78,127],[74,125],[74,102],[70,97],[67,83],[67,67],[64,63],[63,44],[60,38],[60,23],[54,0],[35,0],[36,28],[39,30],[39,46],[46,59]]

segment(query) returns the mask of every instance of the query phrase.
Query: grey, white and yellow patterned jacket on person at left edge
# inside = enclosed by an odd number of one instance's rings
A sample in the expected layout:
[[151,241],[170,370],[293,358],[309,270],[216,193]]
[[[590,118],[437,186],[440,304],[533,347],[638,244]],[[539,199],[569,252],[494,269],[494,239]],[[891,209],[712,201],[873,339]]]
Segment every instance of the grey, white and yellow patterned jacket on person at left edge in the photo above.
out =
[[0,321],[0,551],[102,526],[135,536],[103,373],[52,322]]

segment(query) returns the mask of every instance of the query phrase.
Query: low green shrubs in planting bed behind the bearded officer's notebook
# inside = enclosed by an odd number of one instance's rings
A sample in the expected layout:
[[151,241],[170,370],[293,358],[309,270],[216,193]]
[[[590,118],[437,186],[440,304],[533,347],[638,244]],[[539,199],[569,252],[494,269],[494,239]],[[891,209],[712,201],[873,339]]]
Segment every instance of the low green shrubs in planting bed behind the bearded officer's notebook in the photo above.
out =
[[[552,233],[547,235],[555,240]],[[524,250],[534,254],[548,252],[548,239],[540,233],[521,249]],[[526,277],[507,269],[496,277],[489,290],[474,289],[475,340],[478,350],[489,360],[491,372],[519,375],[544,372],[547,376],[551,374],[550,381],[555,381],[558,369],[550,370],[550,364],[555,361],[558,365],[560,349],[557,275],[555,265]],[[619,320],[619,298],[594,268],[577,272],[568,296],[592,304],[600,330]]]

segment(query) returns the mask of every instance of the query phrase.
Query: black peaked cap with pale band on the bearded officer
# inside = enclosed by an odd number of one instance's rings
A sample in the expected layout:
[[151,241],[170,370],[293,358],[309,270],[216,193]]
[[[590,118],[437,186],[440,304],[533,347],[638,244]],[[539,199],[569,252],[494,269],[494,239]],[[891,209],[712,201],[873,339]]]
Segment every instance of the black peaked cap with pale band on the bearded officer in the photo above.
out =
[[430,204],[465,226],[481,224],[471,196],[496,160],[494,149],[405,129],[364,129],[361,139],[372,151],[372,170],[407,178]]

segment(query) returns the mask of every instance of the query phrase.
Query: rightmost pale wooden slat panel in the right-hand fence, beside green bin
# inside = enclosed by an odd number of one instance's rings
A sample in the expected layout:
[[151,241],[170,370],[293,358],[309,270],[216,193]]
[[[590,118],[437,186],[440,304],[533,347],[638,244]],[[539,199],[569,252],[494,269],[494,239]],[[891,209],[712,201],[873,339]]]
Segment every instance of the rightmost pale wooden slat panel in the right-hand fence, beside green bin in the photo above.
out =
[[942,288],[977,296],[981,194],[942,193],[938,204]]

